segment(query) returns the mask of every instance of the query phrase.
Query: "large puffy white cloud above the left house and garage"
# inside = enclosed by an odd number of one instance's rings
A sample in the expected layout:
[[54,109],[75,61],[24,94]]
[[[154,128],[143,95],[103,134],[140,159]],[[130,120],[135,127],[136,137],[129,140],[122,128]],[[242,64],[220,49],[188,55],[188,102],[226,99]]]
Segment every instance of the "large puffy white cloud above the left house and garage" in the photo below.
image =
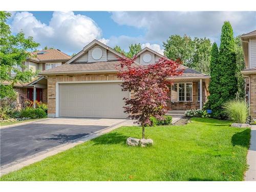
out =
[[33,36],[35,41],[44,46],[53,46],[67,53],[80,51],[93,39],[103,43],[101,29],[93,19],[74,12],[53,12],[49,25],[41,23],[32,13],[18,12],[13,17],[12,32],[23,30],[26,36]]

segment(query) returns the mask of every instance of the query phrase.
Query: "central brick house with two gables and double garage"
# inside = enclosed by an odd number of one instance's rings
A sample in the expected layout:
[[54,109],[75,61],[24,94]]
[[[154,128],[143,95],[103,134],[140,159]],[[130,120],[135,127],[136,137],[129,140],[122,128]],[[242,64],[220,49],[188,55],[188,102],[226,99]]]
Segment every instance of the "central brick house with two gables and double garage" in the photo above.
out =
[[[64,65],[42,71],[47,81],[49,117],[126,118],[116,66],[123,57],[114,49],[93,40]],[[137,65],[150,65],[163,55],[144,48],[137,54]],[[209,76],[181,66],[184,73],[169,78],[170,110],[201,109],[208,95]]]

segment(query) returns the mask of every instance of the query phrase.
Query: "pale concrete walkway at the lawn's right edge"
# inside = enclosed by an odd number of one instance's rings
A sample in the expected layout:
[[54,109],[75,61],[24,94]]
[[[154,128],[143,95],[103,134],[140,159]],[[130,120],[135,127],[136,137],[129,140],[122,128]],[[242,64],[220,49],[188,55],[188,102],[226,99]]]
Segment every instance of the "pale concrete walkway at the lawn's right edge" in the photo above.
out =
[[256,181],[256,125],[251,126],[250,148],[247,154],[249,169],[245,173],[245,181]]

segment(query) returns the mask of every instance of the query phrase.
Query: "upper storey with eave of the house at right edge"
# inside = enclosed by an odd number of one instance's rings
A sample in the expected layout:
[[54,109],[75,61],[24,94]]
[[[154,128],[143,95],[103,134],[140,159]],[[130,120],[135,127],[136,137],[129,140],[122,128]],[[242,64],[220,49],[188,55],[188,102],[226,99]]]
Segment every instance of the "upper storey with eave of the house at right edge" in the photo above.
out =
[[246,69],[256,68],[256,30],[241,35]]

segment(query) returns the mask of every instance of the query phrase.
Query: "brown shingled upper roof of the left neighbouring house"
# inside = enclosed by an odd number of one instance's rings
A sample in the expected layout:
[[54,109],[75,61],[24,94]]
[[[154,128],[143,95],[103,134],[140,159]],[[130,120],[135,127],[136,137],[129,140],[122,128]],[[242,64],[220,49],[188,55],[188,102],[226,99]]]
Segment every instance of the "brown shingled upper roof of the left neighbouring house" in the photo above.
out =
[[61,52],[58,49],[48,49],[48,50],[41,50],[31,53],[35,57],[31,57],[32,60],[40,61],[49,61],[49,60],[69,60],[71,56],[67,55],[66,53]]

